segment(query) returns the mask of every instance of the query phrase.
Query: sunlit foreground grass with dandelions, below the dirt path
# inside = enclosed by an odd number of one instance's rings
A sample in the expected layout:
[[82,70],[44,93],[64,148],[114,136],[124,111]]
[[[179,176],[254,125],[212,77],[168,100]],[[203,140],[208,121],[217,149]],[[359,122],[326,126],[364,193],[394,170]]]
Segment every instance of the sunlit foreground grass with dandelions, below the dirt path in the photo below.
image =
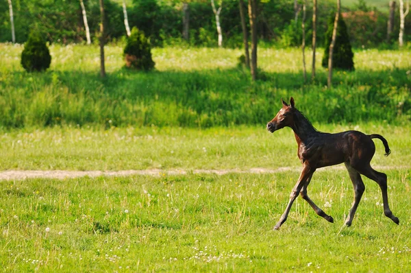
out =
[[386,173],[400,225],[382,213],[376,183],[364,180],[353,226],[341,231],[353,198],[346,171],[318,172],[309,187],[335,224],[298,198],[278,231],[294,171],[1,181],[0,265],[6,272],[409,272],[410,169]]

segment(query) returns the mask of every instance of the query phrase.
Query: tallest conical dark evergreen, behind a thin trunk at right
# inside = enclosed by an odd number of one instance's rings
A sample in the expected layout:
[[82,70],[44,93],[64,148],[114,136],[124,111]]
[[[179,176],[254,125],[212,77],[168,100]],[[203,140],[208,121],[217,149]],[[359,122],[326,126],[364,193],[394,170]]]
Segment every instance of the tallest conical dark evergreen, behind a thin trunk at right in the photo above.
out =
[[[323,67],[328,67],[329,45],[331,45],[332,32],[334,29],[334,14],[329,17],[328,29],[325,33],[325,52],[323,56]],[[338,16],[336,44],[332,55],[332,67],[335,69],[354,70],[354,54],[349,42],[347,25],[343,16]]]

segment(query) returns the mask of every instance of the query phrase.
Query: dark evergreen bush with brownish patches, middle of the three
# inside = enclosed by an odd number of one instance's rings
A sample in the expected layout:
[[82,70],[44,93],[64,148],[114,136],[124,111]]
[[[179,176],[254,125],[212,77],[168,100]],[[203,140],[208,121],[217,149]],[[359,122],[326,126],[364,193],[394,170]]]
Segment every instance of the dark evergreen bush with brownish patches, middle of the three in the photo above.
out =
[[132,33],[127,38],[124,48],[125,65],[140,70],[151,70],[154,68],[151,58],[151,46],[144,33],[133,27]]

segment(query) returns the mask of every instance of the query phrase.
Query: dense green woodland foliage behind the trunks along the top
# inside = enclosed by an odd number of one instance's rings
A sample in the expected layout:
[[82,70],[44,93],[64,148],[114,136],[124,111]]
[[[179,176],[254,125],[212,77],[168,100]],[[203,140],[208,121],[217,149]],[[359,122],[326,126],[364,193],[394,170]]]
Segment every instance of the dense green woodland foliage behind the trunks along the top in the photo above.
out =
[[[215,1],[216,4],[221,3]],[[245,1],[246,2],[246,1]],[[299,1],[300,2],[300,1]],[[312,24],[312,1],[308,1],[306,25]],[[86,40],[82,8],[79,0],[12,0],[16,43],[24,43],[31,29],[42,32],[50,43],[82,43]],[[121,0],[105,0],[106,34],[109,41],[125,37]],[[188,8],[188,37],[183,38],[184,3],[177,0],[127,1],[130,27],[138,27],[149,36],[151,45],[192,45],[214,47],[217,45],[216,19],[210,1],[186,1]],[[247,3],[245,3],[246,5]],[[95,43],[99,37],[99,1],[84,0],[90,35]],[[319,1],[317,14],[317,45],[324,45],[327,20],[335,10],[335,1]],[[387,1],[388,5],[388,1]],[[279,46],[301,44],[301,12],[295,21],[294,0],[260,0],[257,7],[258,38],[261,42]],[[238,0],[223,0],[220,14],[224,47],[242,46],[242,29]],[[395,43],[399,32],[398,9],[395,13],[393,33],[387,40],[388,10],[379,11],[359,0],[351,8],[342,7],[351,45],[354,47],[384,47]],[[246,12],[246,16],[247,12]],[[334,16],[334,15],[333,15]],[[247,18],[247,23],[248,18]],[[411,37],[411,19],[406,18],[404,40]],[[311,43],[308,27],[306,45]],[[12,40],[7,1],[0,5],[0,42]]]

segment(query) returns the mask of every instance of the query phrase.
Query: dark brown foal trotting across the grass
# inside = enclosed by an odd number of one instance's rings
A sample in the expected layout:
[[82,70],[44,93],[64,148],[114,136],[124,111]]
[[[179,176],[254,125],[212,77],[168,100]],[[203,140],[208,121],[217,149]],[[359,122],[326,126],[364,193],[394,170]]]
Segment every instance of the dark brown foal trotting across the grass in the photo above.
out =
[[312,206],[316,214],[320,215],[328,222],[333,223],[334,219],[321,210],[307,195],[307,187],[310,184],[312,174],[321,167],[344,163],[347,167],[349,177],[354,186],[353,206],[345,224],[351,226],[354,214],[360,203],[365,186],[360,174],[377,182],[382,191],[382,200],[384,201],[384,214],[392,219],[395,224],[399,224],[399,219],[393,215],[388,206],[387,195],[387,176],[386,174],[375,171],[370,161],[375,153],[375,145],[371,139],[380,139],[384,144],[386,156],[390,154],[390,148],[384,137],[379,134],[363,134],[358,131],[338,132],[329,134],[317,131],[310,121],[304,117],[294,106],[294,99],[290,98],[290,105],[281,99],[283,107],[279,110],[274,119],[267,123],[267,130],[274,132],[286,126],[292,128],[295,134],[295,140],[298,144],[297,156],[299,157],[303,170],[298,178],[297,184],[291,191],[290,201],[286,210],[282,214],[275,229],[286,222],[290,212],[292,202],[299,194]]

